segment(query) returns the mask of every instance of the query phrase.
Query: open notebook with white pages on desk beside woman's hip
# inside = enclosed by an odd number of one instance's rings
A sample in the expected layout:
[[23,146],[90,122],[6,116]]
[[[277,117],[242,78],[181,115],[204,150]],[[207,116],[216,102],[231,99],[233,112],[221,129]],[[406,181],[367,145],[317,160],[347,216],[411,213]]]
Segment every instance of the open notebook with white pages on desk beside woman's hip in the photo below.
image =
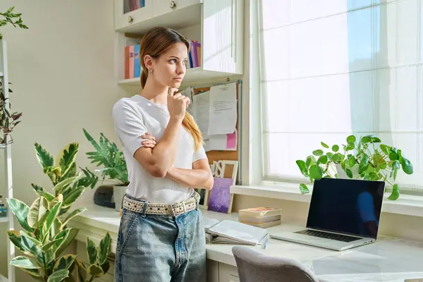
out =
[[204,222],[206,243],[259,245],[267,231],[238,221],[208,219]]

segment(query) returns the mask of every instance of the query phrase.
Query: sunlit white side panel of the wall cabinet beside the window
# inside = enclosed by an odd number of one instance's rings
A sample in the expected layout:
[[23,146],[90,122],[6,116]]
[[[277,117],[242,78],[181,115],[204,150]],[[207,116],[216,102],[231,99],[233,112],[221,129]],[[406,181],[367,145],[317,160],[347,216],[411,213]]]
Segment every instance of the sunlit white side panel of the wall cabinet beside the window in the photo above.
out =
[[203,69],[243,73],[243,0],[204,0]]

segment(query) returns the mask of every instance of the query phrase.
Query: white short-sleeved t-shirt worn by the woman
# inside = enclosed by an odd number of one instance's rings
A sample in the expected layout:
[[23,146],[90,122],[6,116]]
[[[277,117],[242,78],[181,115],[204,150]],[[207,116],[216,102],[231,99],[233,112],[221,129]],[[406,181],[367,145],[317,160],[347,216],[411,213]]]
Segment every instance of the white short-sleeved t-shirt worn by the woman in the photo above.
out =
[[[157,204],[173,204],[188,199],[192,188],[176,183],[169,178],[153,177],[133,157],[142,147],[141,136],[149,133],[159,142],[168,124],[170,115],[167,106],[155,104],[141,95],[119,99],[113,107],[114,127],[123,145],[126,166],[128,167],[129,185],[126,194],[140,200]],[[195,152],[195,142],[190,133],[181,125],[176,168],[192,168],[192,163],[207,159],[204,147]]]

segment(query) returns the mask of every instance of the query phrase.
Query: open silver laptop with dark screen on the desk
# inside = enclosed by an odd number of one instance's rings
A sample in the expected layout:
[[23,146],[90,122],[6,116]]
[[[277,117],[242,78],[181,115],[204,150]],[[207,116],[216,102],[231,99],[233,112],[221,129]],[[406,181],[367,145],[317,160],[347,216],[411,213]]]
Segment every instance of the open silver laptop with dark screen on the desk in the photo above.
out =
[[348,250],[374,243],[379,230],[384,181],[322,178],[314,181],[307,225],[271,238]]

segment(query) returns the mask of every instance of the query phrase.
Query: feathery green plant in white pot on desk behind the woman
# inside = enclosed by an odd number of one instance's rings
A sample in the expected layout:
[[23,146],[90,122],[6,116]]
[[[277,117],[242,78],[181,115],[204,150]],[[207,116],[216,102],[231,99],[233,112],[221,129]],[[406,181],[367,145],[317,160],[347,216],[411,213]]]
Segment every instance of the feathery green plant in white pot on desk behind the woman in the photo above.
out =
[[[114,202],[115,209],[119,211],[122,205],[122,199],[125,195],[126,188],[128,187],[128,169],[126,168],[125,157],[115,143],[110,142],[103,133],[100,133],[100,139],[97,143],[96,140],[85,130],[85,137],[90,141],[94,147],[94,152],[87,152],[88,159],[92,164],[102,166],[97,169],[97,172],[102,173],[102,179],[106,178],[114,181]],[[91,171],[89,171],[91,173]]]

